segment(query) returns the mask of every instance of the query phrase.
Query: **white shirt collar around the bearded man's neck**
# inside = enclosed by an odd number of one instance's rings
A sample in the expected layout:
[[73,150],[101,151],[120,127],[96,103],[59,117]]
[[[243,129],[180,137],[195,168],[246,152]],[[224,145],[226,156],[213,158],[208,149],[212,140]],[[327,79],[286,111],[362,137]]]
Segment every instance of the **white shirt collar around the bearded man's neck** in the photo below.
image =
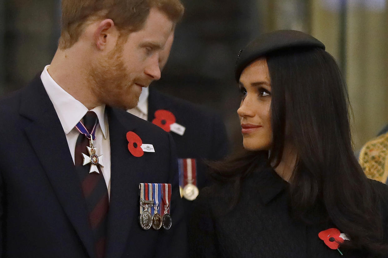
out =
[[[58,118],[61,121],[63,131],[68,134],[88,112],[88,108],[85,107],[80,101],[76,100],[68,92],[59,86],[54,79],[50,76],[47,65],[40,75],[43,86],[45,87],[47,94],[51,102],[54,105],[55,112],[57,112]],[[105,116],[105,105],[100,105],[93,108],[90,111],[94,111],[98,117],[99,125],[104,134],[104,138],[107,138],[107,124]]]

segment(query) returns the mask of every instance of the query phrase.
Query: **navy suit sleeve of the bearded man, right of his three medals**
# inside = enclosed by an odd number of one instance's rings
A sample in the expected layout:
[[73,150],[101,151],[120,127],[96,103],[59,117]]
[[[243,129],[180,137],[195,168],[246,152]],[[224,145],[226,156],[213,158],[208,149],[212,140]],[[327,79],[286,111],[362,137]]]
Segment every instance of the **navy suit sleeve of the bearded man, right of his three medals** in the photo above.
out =
[[[179,193],[179,176],[177,154],[175,143],[170,134],[170,178],[171,182],[171,218],[172,225],[169,230],[162,230],[168,237],[160,242],[159,250],[165,250],[168,257],[186,258],[187,257],[187,227],[184,219],[184,207]],[[166,253],[166,256],[167,256]],[[165,256],[162,256],[165,257]]]

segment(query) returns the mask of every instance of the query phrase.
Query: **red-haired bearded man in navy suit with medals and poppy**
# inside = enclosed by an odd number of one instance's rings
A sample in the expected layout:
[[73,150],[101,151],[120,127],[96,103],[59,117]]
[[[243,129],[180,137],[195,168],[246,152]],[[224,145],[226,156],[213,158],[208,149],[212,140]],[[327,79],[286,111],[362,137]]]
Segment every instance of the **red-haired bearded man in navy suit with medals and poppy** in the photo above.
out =
[[[179,0],[62,0],[51,65],[0,100],[3,257],[185,256],[171,136],[125,112],[182,14]],[[169,230],[140,227],[154,199],[140,183],[165,186]]]

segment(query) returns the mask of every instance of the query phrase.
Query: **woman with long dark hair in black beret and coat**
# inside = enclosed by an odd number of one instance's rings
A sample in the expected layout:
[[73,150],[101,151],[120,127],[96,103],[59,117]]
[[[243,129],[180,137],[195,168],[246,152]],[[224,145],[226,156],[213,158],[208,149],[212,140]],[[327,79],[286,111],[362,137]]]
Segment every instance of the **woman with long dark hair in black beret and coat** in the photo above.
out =
[[388,187],[353,155],[348,96],[317,39],[275,31],[239,55],[246,153],[213,164],[192,257],[388,257]]

